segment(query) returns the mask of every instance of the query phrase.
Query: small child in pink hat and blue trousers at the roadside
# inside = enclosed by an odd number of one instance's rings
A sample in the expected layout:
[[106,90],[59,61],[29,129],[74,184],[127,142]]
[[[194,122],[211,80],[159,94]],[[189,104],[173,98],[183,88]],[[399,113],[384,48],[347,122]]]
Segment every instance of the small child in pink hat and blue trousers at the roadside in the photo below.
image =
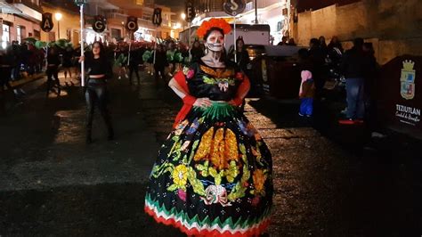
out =
[[301,100],[299,116],[312,116],[313,110],[313,96],[315,94],[315,85],[312,79],[312,72],[309,70],[302,70],[302,83],[299,89],[299,98]]

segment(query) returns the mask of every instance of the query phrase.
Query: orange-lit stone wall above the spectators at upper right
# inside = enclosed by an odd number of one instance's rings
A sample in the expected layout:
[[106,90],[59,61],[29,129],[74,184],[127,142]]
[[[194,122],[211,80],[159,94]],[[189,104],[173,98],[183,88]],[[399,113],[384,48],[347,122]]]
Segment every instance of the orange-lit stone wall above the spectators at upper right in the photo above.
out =
[[299,45],[312,37],[337,36],[350,47],[354,37],[372,42],[380,64],[402,54],[422,55],[422,4],[418,0],[363,0],[301,12],[293,26]]

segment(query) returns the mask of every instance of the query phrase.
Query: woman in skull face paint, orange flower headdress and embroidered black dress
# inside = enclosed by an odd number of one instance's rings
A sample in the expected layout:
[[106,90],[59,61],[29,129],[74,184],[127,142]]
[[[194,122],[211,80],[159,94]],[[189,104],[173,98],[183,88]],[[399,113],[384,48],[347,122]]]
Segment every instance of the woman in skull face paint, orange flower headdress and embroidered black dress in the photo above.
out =
[[207,54],[174,75],[183,98],[150,174],[145,211],[195,236],[257,236],[272,210],[272,156],[239,110],[249,80],[223,59],[225,20],[198,29]]

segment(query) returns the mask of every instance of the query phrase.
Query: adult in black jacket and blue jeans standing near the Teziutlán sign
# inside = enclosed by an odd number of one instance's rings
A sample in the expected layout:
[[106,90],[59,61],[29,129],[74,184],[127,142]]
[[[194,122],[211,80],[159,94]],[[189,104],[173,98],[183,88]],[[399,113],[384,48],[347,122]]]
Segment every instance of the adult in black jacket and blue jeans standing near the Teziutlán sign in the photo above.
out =
[[365,115],[364,78],[368,70],[368,56],[363,52],[363,39],[355,38],[353,48],[346,51],[340,70],[345,75],[345,91],[347,96],[346,119],[343,124],[361,123]]

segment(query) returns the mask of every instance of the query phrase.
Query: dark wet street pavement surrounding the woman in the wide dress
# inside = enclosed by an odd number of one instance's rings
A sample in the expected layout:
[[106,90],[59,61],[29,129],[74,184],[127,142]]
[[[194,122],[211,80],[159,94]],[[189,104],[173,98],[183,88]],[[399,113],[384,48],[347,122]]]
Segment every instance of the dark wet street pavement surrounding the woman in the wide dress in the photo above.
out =
[[[45,99],[45,78],[28,83],[0,118],[0,235],[183,236],[143,212],[180,100],[146,73],[139,86],[113,79],[116,139],[107,141],[96,114],[87,145],[81,89],[66,84]],[[363,149],[362,127],[339,127],[337,105],[319,106],[301,119],[296,101],[248,99],[274,162],[270,236],[420,236],[421,143],[391,133]]]

